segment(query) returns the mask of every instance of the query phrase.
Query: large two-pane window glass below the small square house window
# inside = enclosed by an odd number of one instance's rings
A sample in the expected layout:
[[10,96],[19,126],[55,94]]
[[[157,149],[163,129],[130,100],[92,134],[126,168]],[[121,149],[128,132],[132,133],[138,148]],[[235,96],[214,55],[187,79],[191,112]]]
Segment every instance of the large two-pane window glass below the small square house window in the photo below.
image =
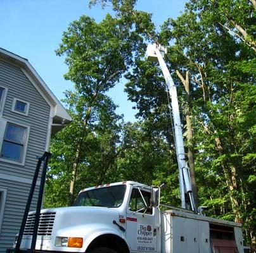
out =
[[26,133],[27,128],[14,125],[12,123],[7,123],[6,131],[4,133],[1,157],[22,162]]

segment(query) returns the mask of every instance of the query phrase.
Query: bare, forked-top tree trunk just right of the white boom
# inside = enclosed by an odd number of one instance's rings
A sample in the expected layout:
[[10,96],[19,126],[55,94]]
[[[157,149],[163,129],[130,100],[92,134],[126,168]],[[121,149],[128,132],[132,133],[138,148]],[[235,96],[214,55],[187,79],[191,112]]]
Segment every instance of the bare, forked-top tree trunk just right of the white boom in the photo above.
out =
[[197,195],[197,186],[196,186],[196,173],[195,173],[195,159],[194,159],[194,147],[193,147],[193,132],[191,125],[191,103],[190,103],[190,90],[189,90],[189,71],[186,71],[186,79],[184,79],[179,73],[179,70],[176,70],[177,76],[181,79],[182,84],[186,90],[186,102],[188,110],[186,113],[186,125],[187,125],[187,138],[188,138],[188,164],[191,177],[191,187],[193,198],[195,201],[196,207],[198,207],[198,195]]

